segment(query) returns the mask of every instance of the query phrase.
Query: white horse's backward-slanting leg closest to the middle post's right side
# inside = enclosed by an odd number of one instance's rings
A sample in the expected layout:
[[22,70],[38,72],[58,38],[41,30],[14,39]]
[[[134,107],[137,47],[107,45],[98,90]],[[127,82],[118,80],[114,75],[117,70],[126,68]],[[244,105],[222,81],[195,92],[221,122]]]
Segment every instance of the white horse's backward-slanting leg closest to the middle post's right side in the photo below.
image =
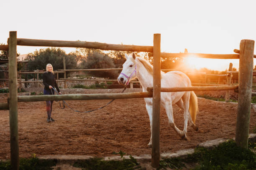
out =
[[166,114],[167,114],[167,117],[169,119],[169,125],[171,125],[171,127],[176,131],[176,133],[184,138],[184,139],[187,139],[187,136],[186,134],[182,131],[182,130],[179,130],[176,125],[174,124],[174,118],[173,118],[173,110],[172,110],[172,103],[171,102],[165,102],[164,103],[164,108],[166,110]]

